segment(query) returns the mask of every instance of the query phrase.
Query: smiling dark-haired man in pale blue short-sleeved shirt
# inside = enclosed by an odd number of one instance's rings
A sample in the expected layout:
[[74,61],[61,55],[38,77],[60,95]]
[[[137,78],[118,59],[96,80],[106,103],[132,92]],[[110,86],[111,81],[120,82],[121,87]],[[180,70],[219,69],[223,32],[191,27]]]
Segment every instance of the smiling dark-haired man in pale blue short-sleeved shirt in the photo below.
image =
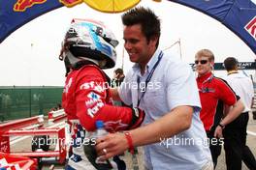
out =
[[158,48],[160,19],[150,9],[134,8],[122,22],[124,47],[135,65],[111,94],[143,109],[144,126],[99,138],[98,155],[106,159],[144,146],[147,170],[213,169],[193,71]]

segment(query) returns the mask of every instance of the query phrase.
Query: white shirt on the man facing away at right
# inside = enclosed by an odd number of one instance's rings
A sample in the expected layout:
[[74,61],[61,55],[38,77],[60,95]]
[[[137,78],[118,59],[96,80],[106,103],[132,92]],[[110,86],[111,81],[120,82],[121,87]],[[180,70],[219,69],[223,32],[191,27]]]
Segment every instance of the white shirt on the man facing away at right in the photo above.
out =
[[252,80],[240,72],[231,73],[224,77],[224,79],[227,80],[232,89],[240,96],[244,104],[244,110],[242,112],[250,111],[252,98],[254,96]]

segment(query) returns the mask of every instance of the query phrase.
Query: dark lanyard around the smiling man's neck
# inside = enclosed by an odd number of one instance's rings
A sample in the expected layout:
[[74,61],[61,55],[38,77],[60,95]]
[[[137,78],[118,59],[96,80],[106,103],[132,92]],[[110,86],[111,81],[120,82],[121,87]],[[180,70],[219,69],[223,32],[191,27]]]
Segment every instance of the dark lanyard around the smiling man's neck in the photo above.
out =
[[144,82],[144,91],[143,91],[143,94],[141,96],[141,98],[139,99],[139,89],[141,89],[140,87],[140,83],[141,83],[141,80],[140,80],[140,77],[138,76],[137,78],[137,87],[138,87],[138,102],[137,102],[137,107],[139,107],[140,103],[141,103],[141,100],[144,98],[144,94],[145,94],[145,91],[146,91],[146,88],[147,88],[147,84],[148,82],[150,81],[156,67],[158,66],[158,64],[160,63],[162,57],[163,57],[164,53],[161,51],[158,55],[158,60],[157,62],[154,64],[152,70],[149,72],[149,74],[147,75],[146,79],[145,79],[145,82]]

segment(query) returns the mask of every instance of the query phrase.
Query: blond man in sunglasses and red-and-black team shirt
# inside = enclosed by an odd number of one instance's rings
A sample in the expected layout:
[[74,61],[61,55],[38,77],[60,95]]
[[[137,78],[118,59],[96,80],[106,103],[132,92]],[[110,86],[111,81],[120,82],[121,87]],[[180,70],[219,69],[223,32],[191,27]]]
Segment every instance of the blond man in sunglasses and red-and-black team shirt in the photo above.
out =
[[[214,55],[209,49],[201,49],[196,53],[197,85],[202,104],[200,118],[208,134],[209,149],[216,167],[223,144],[222,130],[240,115],[244,107],[240,97],[227,82],[213,75],[213,65]],[[224,116],[225,105],[231,109]]]

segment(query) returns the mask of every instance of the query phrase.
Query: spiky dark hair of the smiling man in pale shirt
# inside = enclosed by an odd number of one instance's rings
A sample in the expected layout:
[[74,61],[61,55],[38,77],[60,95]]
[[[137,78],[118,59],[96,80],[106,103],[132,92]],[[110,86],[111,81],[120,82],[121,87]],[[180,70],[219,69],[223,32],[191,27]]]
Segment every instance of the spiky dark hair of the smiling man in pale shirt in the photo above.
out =
[[141,24],[142,32],[147,42],[157,37],[158,42],[156,43],[156,47],[158,46],[161,34],[160,19],[149,8],[137,7],[122,14],[122,23],[125,26]]

